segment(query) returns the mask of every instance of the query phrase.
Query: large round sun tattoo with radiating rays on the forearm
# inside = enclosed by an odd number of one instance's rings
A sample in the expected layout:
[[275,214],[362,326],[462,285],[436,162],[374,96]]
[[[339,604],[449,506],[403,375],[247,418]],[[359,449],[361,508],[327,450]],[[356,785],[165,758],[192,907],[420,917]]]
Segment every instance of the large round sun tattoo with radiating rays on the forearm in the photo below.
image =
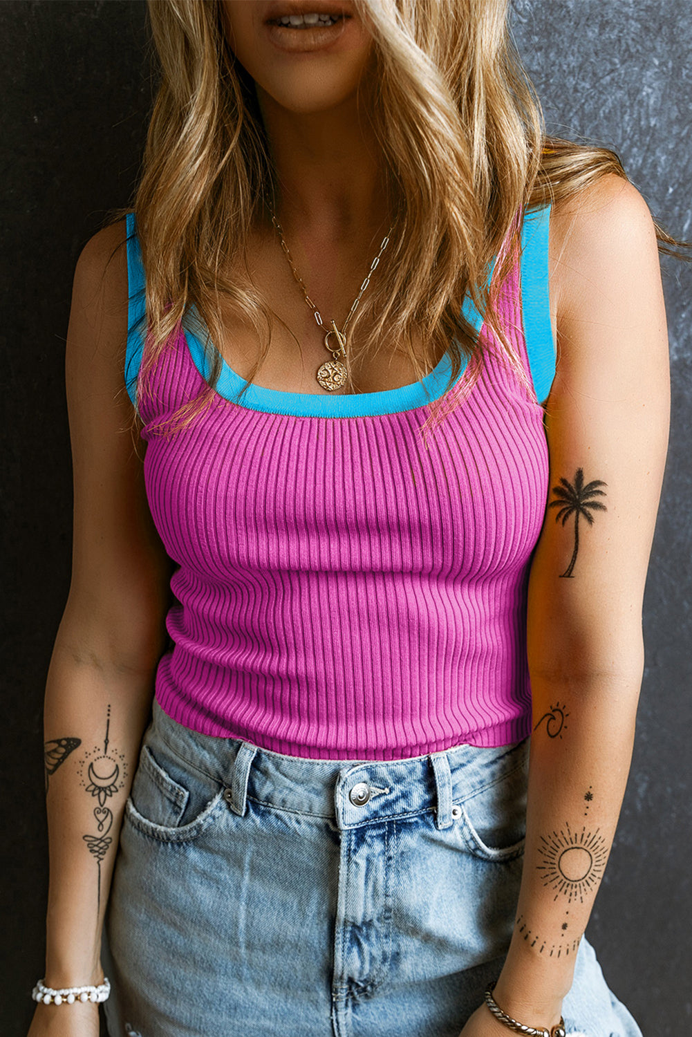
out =
[[572,832],[569,824],[546,839],[541,837],[539,852],[543,864],[537,870],[543,872],[544,886],[555,890],[555,900],[560,896],[568,903],[579,900],[598,888],[608,859],[608,844],[600,835],[600,830]]

